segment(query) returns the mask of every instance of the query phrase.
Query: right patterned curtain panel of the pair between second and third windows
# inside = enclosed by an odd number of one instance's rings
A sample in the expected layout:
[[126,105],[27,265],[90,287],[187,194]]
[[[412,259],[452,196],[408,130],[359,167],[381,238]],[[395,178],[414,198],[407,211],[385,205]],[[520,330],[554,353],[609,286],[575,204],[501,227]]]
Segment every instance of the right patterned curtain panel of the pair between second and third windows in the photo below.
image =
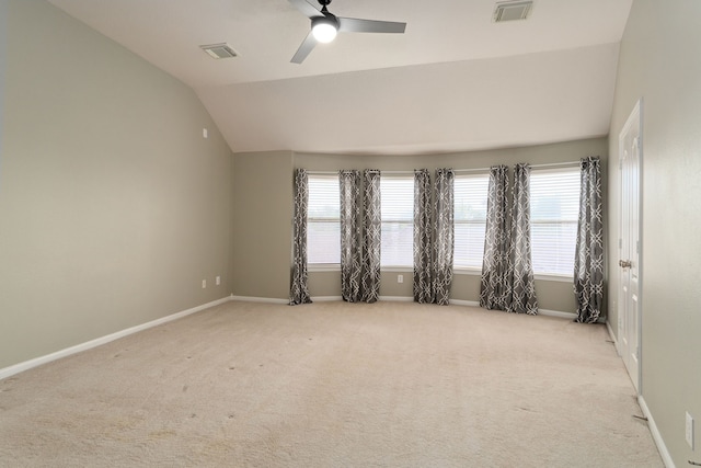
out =
[[436,235],[434,240],[434,301],[447,306],[452,282],[453,185],[452,169],[436,169]]

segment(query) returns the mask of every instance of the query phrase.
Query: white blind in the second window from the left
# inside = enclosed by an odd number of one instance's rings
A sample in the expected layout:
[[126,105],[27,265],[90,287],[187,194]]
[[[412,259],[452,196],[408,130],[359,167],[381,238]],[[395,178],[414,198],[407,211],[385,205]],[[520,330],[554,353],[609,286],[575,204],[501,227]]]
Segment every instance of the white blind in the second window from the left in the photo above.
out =
[[414,176],[382,175],[381,266],[414,265]]

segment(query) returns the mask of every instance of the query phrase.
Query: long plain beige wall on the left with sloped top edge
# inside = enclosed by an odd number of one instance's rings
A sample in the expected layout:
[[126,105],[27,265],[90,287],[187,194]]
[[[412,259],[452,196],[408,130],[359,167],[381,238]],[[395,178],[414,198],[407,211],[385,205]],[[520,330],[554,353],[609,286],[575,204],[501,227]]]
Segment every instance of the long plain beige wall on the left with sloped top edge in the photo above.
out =
[[0,368],[228,296],[231,153],[194,92],[44,1],[0,7]]

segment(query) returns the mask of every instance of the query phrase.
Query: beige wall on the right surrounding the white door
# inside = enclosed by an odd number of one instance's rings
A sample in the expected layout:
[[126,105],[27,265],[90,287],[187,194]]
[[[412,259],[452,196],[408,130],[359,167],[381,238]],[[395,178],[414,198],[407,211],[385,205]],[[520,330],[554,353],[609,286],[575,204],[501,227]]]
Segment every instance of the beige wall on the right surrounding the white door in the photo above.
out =
[[[642,395],[676,466],[701,463],[701,2],[635,0],[621,43],[609,173],[618,135],[643,99]],[[609,180],[609,244],[619,231],[619,180]],[[609,255],[617,330],[616,251]],[[696,419],[696,452],[685,412]]]

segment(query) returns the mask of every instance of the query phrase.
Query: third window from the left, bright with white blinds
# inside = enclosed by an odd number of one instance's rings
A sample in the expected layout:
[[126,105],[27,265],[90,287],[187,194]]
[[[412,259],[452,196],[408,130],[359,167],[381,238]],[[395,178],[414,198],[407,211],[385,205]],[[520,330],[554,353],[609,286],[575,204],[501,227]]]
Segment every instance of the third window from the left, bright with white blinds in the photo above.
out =
[[489,174],[456,175],[455,251],[456,269],[482,270]]

